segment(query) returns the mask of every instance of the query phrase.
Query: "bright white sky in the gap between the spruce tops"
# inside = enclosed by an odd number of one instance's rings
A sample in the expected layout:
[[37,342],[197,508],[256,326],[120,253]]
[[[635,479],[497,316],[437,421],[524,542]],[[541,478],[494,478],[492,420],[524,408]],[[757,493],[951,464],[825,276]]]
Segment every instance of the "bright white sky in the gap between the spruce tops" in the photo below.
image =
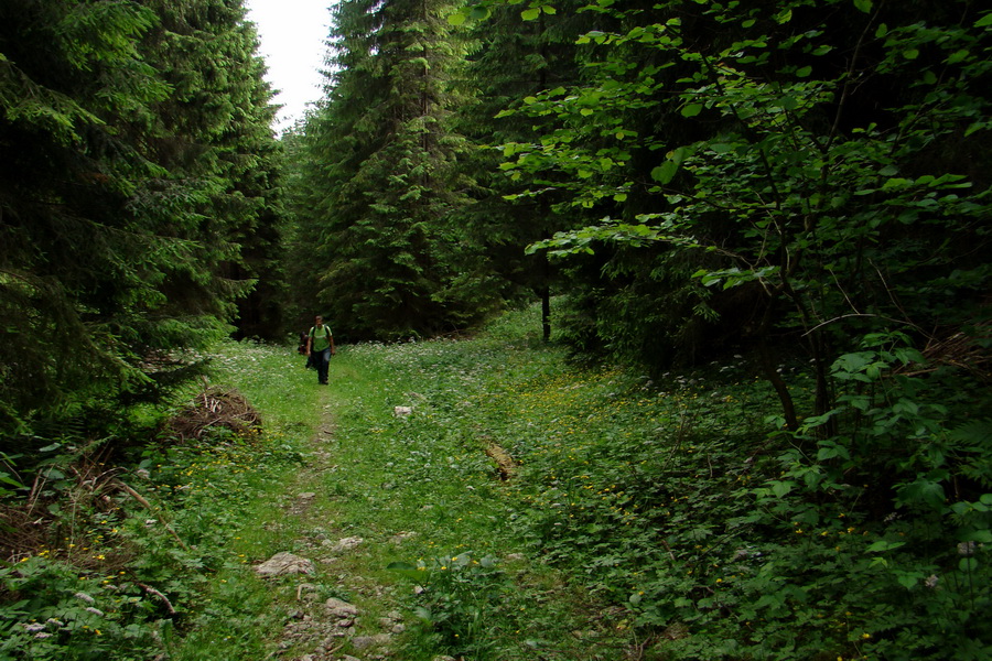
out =
[[331,23],[327,8],[334,0],[246,0],[248,20],[258,28],[269,73],[266,79],[281,90],[274,101],[283,106],[276,119],[282,132],[303,118],[306,105],[321,98],[324,40]]

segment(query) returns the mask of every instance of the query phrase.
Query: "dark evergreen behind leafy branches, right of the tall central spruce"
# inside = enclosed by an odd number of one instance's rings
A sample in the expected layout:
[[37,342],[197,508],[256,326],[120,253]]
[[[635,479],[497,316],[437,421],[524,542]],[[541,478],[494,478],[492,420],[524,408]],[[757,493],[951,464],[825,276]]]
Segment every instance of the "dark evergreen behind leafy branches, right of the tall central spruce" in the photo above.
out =
[[[459,112],[459,130],[475,147],[467,162],[475,186],[473,203],[457,214],[465,219],[473,240],[485,247],[486,266],[498,273],[504,296],[540,296],[546,338],[550,335],[551,268],[544,253],[528,257],[524,249],[560,228],[562,220],[556,218],[554,208],[562,198],[549,187],[526,203],[519,198],[508,202],[507,197],[517,197],[525,186],[518,182],[519,174],[505,172],[499,164],[513,145],[536,140],[549,121],[520,122],[503,113],[532,95],[579,83],[575,34],[591,29],[589,17],[575,11],[582,6],[584,2],[557,9],[521,11],[520,7],[497,6],[485,10],[489,15],[475,23],[471,33],[464,68],[466,102]],[[452,21],[461,23],[464,18],[456,15]]]

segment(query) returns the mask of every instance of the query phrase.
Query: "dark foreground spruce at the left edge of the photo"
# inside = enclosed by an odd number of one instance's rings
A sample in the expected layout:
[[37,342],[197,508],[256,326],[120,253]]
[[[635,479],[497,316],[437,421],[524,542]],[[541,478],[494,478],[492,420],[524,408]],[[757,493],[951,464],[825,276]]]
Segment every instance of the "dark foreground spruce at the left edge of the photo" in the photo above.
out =
[[0,432],[144,380],[130,318],[183,243],[136,208],[161,174],[134,140],[169,87],[133,3],[0,7]]

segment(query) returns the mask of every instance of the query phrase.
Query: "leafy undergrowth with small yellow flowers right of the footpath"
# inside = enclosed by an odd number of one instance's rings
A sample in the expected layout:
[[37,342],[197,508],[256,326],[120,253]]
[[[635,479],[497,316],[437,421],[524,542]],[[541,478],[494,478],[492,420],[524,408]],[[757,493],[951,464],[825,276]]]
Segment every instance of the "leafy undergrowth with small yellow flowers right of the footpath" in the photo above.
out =
[[[342,442],[381,457],[380,484],[398,489],[381,496],[398,521],[419,511],[431,523],[430,541],[392,564],[425,588],[411,607],[430,649],[473,659],[527,649],[573,659],[989,654],[989,425],[975,400],[928,403],[949,391],[932,375],[899,375],[921,356],[842,357],[834,378],[855,383],[841,407],[788,433],[743,357],[653,382],[569,366],[524,327],[538,326],[506,317],[471,342],[351,354],[382,371],[377,401],[359,407],[366,418]],[[804,405],[804,366],[781,371]],[[386,420],[369,404],[413,413]],[[829,420],[843,431],[824,433]],[[490,444],[516,459],[507,483],[481,464]],[[465,490],[452,496],[452,486]],[[561,606],[548,616],[547,602],[574,595],[529,589],[528,570],[508,568],[518,553],[584,592],[587,603],[573,606],[594,609],[585,626],[560,627]]]

